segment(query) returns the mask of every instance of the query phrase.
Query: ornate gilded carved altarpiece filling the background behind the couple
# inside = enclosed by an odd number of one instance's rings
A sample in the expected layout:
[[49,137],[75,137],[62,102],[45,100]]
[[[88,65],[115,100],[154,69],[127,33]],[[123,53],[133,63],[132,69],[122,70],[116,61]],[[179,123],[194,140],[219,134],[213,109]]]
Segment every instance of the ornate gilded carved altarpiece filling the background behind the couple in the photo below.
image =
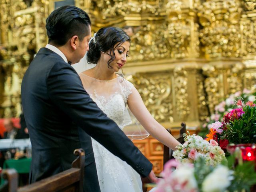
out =
[[[20,114],[22,77],[47,43],[45,20],[59,1],[0,0],[0,118]],[[90,14],[93,32],[134,28],[124,74],[166,128],[184,121],[197,129],[220,98],[256,89],[256,0],[74,0],[74,5]],[[153,153],[157,158],[160,147]]]

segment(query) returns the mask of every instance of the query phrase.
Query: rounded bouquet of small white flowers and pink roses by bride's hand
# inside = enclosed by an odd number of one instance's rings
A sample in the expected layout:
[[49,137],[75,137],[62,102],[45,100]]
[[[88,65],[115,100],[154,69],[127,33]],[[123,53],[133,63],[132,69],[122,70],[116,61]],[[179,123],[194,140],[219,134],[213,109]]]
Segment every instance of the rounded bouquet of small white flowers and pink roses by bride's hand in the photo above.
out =
[[203,158],[207,165],[215,166],[225,159],[224,151],[215,140],[210,140],[209,143],[198,135],[184,134],[184,141],[173,152],[174,158],[179,162],[193,163],[196,159]]

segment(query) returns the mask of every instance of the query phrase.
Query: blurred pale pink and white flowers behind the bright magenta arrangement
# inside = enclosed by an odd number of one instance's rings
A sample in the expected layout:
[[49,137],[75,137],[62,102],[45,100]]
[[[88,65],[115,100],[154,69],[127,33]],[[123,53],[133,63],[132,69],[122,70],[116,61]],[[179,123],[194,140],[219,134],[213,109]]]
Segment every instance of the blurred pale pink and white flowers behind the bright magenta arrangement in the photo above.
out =
[[253,103],[255,96],[252,95],[251,91],[248,89],[244,89],[242,92],[238,91],[234,94],[231,94],[228,98],[215,106],[214,114],[211,114],[210,117],[206,119],[206,122],[202,124],[202,130],[199,135],[204,137],[210,128],[212,128],[212,123],[216,121],[221,122],[224,114],[227,114],[233,108],[238,108],[239,106],[236,105],[238,100],[241,100],[244,103]]

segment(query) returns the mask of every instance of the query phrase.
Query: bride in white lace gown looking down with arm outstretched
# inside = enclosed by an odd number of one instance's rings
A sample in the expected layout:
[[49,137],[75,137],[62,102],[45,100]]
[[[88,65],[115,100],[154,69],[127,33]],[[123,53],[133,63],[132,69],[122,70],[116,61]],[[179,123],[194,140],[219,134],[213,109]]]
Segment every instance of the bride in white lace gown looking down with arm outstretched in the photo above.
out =
[[[126,105],[150,135],[175,149],[179,142],[148,112],[132,83],[117,72],[126,64],[130,38],[120,28],[101,28],[92,38],[88,63],[95,67],[79,74],[84,89],[98,107],[123,129]],[[129,133],[128,133],[129,134]],[[140,175],[126,162],[114,156],[92,138],[98,180],[102,192],[141,192]]]

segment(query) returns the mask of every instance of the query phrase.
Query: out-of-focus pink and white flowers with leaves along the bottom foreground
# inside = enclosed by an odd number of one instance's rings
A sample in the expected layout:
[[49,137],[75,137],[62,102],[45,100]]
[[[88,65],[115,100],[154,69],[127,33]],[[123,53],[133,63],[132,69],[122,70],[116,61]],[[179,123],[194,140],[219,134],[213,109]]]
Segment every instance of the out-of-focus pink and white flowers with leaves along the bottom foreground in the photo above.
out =
[[154,192],[249,192],[256,184],[256,172],[251,162],[234,168],[234,157],[215,167],[207,166],[203,158],[194,164],[170,160],[164,165]]

